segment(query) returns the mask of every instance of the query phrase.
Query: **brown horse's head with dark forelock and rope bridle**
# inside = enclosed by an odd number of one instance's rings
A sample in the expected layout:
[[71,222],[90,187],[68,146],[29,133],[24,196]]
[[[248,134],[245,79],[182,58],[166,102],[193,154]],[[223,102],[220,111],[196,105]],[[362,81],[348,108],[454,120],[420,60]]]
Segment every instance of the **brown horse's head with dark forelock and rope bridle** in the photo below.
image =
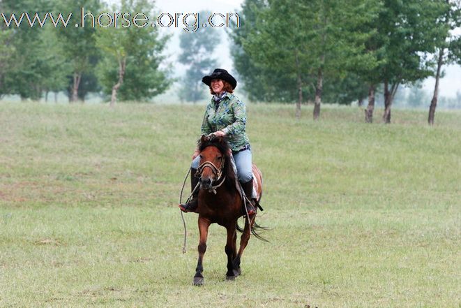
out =
[[222,137],[202,135],[199,151],[200,166],[197,173],[200,187],[213,189],[213,184],[219,183],[225,174],[223,170],[229,156],[229,145]]

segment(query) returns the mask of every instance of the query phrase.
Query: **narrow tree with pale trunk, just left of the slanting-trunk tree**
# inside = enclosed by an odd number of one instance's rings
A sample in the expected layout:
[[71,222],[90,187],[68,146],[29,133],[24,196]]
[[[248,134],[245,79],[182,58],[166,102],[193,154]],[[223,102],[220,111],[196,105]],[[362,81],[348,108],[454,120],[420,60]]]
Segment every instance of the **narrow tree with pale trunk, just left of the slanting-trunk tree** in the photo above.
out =
[[71,85],[70,85],[70,102],[78,100],[78,92],[82,75],[90,73],[94,69],[91,59],[98,57],[98,48],[96,48],[95,27],[93,27],[93,18],[96,18],[96,12],[100,10],[99,0],[61,0],[58,5],[59,11],[69,11],[72,8],[73,16],[80,16],[82,8],[84,13],[89,14],[85,17],[84,24],[80,27],[63,27],[60,25],[57,29],[59,41],[66,46],[64,56],[71,66]]

